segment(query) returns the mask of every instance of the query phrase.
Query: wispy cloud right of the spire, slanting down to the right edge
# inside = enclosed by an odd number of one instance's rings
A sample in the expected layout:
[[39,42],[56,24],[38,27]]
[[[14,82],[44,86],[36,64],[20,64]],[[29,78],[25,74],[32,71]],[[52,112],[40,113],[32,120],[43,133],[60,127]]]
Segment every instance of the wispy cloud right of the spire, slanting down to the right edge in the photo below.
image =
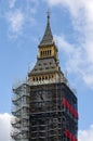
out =
[[76,44],[69,43],[64,36],[55,36],[55,39],[59,50],[63,50],[64,55],[66,55],[65,67],[67,72],[78,74],[77,76],[82,77],[85,85],[93,88],[93,60],[88,59],[90,55],[83,46],[76,47]]

